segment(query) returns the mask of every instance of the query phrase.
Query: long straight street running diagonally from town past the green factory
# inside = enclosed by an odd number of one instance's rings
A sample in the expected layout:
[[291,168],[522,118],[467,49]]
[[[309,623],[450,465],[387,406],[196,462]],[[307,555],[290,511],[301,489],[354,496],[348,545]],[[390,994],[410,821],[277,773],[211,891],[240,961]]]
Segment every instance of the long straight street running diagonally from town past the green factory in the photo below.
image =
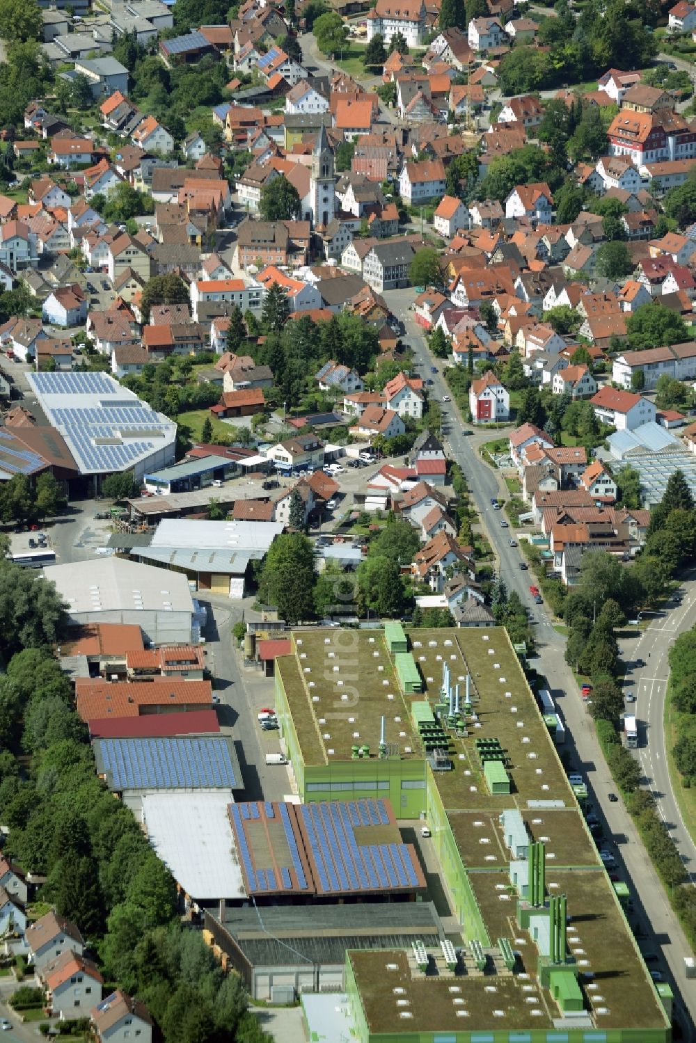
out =
[[[414,291],[412,289],[387,291],[384,296],[394,314],[405,322],[406,340],[413,350],[419,371],[424,377],[433,380],[430,392],[436,401],[441,402],[445,395],[450,394],[450,390],[441,375],[441,360],[433,359],[431,356],[423,331],[415,322],[413,312],[409,311],[409,305],[415,296]],[[429,372],[431,366],[436,366],[438,372],[431,374]],[[478,453],[481,442],[490,439],[490,432],[485,436],[466,436],[462,434],[462,417],[455,404],[443,404],[442,410],[448,454],[464,471],[472,499],[481,518],[482,529],[497,557],[498,575],[505,581],[508,590],[517,590],[534,621],[539,651],[536,666],[546,675],[551,694],[557,701],[566,721],[568,727],[566,744],[573,768],[585,778],[590,799],[603,820],[605,835],[611,843],[617,862],[623,866],[623,875],[633,898],[634,913],[630,917],[631,924],[637,932],[645,935],[645,944],[641,942],[644,951],[655,950],[657,947],[662,950],[666,965],[662,969],[668,970],[667,976],[675,994],[675,1012],[685,1038],[696,1039],[694,1029],[696,995],[692,983],[687,980],[683,964],[685,957],[692,954],[691,947],[623,802],[619,800],[617,803],[611,803],[608,799],[609,793],[616,792],[616,785],[599,747],[592,719],[566,662],[565,635],[553,628],[545,606],[534,604],[529,593],[530,574],[521,572],[520,562],[523,559],[520,551],[508,544],[512,530],[501,529],[500,514],[494,511],[490,505],[491,498],[506,500],[509,495],[500,474],[485,464]],[[655,639],[659,645],[661,638]],[[664,635],[662,639],[664,640]],[[648,660],[642,651],[639,655],[643,655],[646,661],[652,663],[652,656]],[[666,661],[661,676],[666,677]],[[653,698],[655,707],[662,703],[662,698],[655,694]],[[610,944],[610,940],[607,940],[607,944]]]

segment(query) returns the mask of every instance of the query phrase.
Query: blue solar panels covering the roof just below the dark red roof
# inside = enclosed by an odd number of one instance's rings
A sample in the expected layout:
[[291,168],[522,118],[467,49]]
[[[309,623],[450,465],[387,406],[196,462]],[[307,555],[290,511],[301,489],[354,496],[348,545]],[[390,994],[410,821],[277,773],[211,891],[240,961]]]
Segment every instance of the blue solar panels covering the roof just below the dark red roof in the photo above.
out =
[[95,750],[112,790],[233,790],[240,781],[222,735],[100,738]]

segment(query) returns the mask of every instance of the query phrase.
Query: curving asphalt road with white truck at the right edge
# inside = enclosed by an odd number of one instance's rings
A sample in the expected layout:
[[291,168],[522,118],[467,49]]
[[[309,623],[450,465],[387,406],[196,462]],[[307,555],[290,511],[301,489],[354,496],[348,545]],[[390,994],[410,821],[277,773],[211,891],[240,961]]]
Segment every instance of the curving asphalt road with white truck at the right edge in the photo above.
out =
[[682,584],[678,603],[668,606],[668,612],[656,614],[646,630],[621,642],[621,653],[627,666],[642,659],[645,666],[627,669],[626,686],[635,696],[633,709],[638,723],[637,756],[654,797],[657,812],[675,842],[681,860],[692,880],[696,880],[696,844],[687,829],[669,776],[665,735],[665,696],[669,678],[669,652],[675,638],[696,623],[696,585],[693,579]]

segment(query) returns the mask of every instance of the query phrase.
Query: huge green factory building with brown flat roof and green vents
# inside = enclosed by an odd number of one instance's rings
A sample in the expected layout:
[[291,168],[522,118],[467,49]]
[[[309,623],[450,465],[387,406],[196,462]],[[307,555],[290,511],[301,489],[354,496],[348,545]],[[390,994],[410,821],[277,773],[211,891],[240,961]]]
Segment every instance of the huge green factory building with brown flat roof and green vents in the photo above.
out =
[[[320,822],[339,798],[390,801],[402,833],[427,825],[454,921],[443,939],[346,945],[344,994],[323,1021],[308,1003],[308,1038],[667,1043],[671,990],[643,963],[507,633],[289,637],[275,709],[301,799]],[[333,843],[356,865],[349,838]]]

